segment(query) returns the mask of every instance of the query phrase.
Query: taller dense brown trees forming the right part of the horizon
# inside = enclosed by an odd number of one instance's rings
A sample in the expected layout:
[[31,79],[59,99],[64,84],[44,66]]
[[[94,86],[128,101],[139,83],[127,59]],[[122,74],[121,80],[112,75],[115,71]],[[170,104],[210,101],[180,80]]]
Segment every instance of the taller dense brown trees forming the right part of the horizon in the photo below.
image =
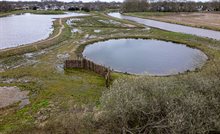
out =
[[220,11],[220,0],[211,2],[125,0],[122,12],[164,11],[195,12]]

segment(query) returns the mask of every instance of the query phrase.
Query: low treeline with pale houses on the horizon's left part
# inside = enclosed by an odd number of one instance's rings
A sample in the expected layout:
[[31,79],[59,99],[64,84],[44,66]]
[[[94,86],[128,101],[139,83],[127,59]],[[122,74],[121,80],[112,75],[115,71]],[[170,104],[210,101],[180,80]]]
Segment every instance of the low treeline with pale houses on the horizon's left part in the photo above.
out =
[[[58,1],[7,1],[0,2],[0,11],[9,10],[84,10],[84,11],[104,11],[106,9],[120,9],[120,2],[58,2]],[[7,6],[6,6],[7,5]]]

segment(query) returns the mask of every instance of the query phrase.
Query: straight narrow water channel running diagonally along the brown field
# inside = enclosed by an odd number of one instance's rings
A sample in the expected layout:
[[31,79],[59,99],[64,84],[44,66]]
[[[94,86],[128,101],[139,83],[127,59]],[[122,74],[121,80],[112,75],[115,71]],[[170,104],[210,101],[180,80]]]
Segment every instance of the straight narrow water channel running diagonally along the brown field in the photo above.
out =
[[171,23],[166,23],[166,22],[161,22],[161,21],[155,21],[155,20],[150,20],[150,19],[142,19],[138,17],[132,17],[132,16],[126,16],[122,15],[120,13],[109,13],[109,16],[120,18],[120,19],[127,19],[131,21],[135,21],[140,24],[144,24],[150,27],[155,27],[167,31],[172,31],[172,32],[180,32],[180,33],[185,33],[185,34],[192,34],[200,37],[207,37],[211,39],[216,39],[220,40],[220,32],[219,31],[213,31],[213,30],[207,30],[207,29],[202,29],[202,28],[194,28],[194,27],[189,27],[189,26],[183,26],[183,25],[178,25],[178,24],[171,24]]

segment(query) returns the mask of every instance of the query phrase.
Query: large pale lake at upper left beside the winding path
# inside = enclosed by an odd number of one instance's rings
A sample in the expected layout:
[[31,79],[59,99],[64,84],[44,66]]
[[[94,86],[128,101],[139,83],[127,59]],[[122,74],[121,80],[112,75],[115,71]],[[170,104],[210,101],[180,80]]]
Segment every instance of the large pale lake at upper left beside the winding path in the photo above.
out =
[[85,14],[36,15],[25,13],[0,17],[0,49],[16,47],[46,39],[53,31],[52,25],[55,18],[82,15]]

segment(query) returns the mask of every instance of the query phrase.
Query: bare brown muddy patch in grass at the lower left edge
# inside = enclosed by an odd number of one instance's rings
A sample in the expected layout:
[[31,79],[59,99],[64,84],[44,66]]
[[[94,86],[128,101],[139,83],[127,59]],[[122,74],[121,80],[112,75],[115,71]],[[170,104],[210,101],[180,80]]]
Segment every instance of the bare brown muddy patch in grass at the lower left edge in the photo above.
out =
[[20,91],[18,87],[0,87],[0,109],[21,102],[20,107],[27,105],[28,91]]

